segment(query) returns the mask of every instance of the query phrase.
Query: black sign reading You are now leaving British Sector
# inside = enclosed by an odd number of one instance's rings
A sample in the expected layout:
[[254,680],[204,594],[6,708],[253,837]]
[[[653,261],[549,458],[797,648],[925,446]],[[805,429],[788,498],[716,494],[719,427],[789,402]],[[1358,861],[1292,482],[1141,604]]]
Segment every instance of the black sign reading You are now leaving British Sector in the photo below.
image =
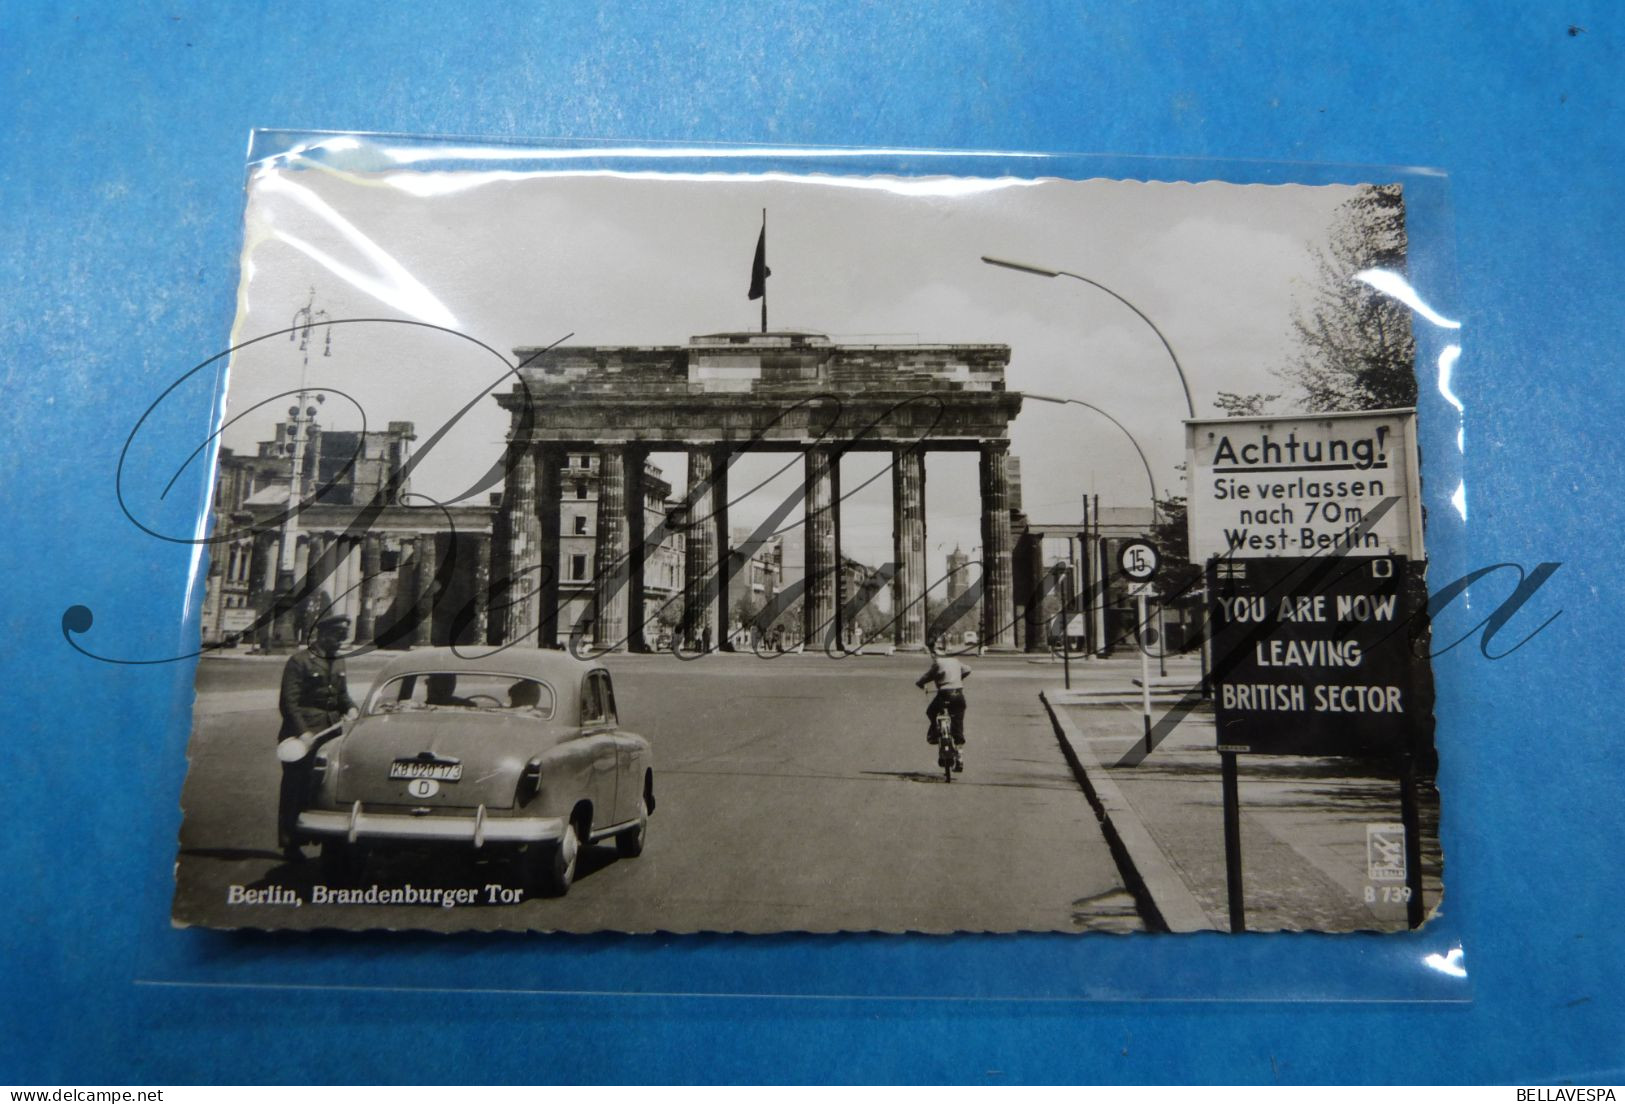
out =
[[1391,756],[1432,715],[1422,589],[1404,556],[1207,571],[1220,750]]

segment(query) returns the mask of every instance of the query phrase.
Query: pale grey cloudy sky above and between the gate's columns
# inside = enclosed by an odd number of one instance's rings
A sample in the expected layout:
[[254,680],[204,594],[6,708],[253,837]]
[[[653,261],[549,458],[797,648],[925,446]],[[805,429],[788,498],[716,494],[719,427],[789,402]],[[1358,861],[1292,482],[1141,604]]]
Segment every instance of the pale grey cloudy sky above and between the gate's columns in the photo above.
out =
[[[234,345],[294,325],[312,301],[330,320],[390,322],[335,325],[330,351],[317,337],[301,353],[288,335],[239,350],[223,442],[252,452],[270,437],[289,405],[275,397],[297,390],[301,376],[327,395],[323,428],[358,429],[362,411],[374,429],[413,421],[419,447],[471,403],[413,476],[414,491],[457,501],[502,454],[507,415],[481,395],[507,390],[502,358],[515,346],[684,345],[697,333],[759,328],[746,289],[765,208],[772,330],[1009,345],[1009,389],[1110,411],[1146,450],[1157,491],[1181,493],[1185,398],[1150,325],[1094,286],[980,257],[1076,272],[1133,302],[1167,337],[1206,418],[1219,413],[1220,390],[1284,390],[1271,372],[1294,351],[1294,304],[1308,298],[1315,249],[1354,193],[1220,182],[344,172],[281,161],[250,176]],[[1082,494],[1149,504],[1133,444],[1087,408],[1027,400],[1011,452],[1038,522],[1079,520]],[[681,457],[655,459],[681,488]],[[843,491],[879,478],[843,504],[843,551],[884,563],[884,460],[860,454],[847,465]],[[733,489],[767,475],[744,465]],[[754,522],[793,486],[786,473],[736,502],[730,520]],[[980,545],[973,455],[933,454],[926,496],[933,567],[956,545]]]

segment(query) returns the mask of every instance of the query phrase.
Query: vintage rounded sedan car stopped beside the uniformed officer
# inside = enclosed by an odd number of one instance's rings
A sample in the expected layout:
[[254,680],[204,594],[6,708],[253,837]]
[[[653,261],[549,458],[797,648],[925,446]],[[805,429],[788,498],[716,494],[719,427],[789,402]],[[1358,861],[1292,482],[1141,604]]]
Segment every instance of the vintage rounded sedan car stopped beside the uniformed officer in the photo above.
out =
[[312,754],[297,832],[333,876],[372,850],[439,845],[507,852],[528,889],[562,894],[583,844],[635,857],[655,811],[648,740],[621,728],[609,672],[564,652],[400,655]]

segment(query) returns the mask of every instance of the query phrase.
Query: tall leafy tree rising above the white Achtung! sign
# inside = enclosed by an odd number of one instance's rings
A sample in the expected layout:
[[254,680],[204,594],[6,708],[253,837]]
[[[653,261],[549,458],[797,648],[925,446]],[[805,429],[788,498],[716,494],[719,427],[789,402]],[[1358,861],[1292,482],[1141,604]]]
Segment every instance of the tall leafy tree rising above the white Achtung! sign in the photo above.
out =
[[1410,309],[1357,278],[1368,268],[1404,275],[1406,246],[1401,185],[1365,187],[1339,208],[1318,250],[1320,285],[1294,312],[1297,354],[1279,372],[1303,390],[1306,410],[1415,405]]

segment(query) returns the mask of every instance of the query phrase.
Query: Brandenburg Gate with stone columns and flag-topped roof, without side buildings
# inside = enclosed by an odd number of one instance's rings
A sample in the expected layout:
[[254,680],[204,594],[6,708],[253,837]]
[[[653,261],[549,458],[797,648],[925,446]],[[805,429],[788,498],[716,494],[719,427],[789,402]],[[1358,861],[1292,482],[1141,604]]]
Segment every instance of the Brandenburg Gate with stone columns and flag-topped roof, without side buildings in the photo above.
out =
[[[982,639],[1014,647],[1008,345],[835,345],[817,333],[710,333],[684,346],[518,348],[520,382],[497,395],[510,413],[507,481],[492,533],[494,628],[502,642],[551,644],[559,632],[559,504],[567,455],[598,455],[592,644],[642,641],[644,459],[687,455],[682,628],[722,641],[728,626],[728,465],[741,452],[803,455],[803,639],[842,623],[840,457],[892,457],[895,642],[926,634],[925,459],[980,455]],[[785,528],[780,522],[774,528]],[[746,553],[749,554],[749,553]],[[500,610],[500,618],[499,618]],[[567,628],[567,626],[566,626]],[[838,639],[838,637],[837,637]]]

